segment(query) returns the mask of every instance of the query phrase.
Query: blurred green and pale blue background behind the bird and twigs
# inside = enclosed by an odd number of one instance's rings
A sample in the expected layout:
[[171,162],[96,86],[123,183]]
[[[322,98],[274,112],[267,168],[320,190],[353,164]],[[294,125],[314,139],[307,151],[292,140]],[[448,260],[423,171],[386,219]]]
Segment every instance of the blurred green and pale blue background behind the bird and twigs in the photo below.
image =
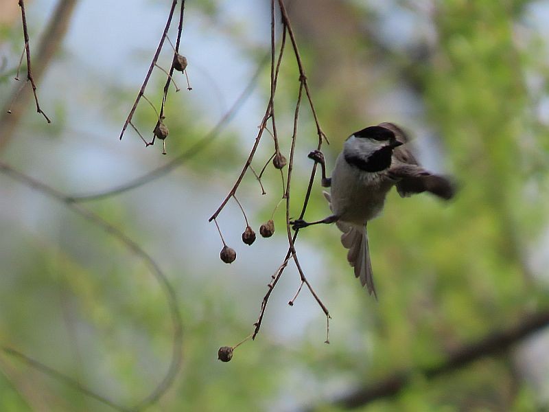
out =
[[[17,3],[0,2],[1,162],[78,196],[132,181],[207,141],[159,179],[79,203],[141,245],[176,293],[183,364],[148,410],[549,408],[549,3],[286,2],[331,143],[324,147],[328,169],[355,130],[395,122],[414,139],[423,165],[454,175],[460,192],[447,204],[426,194],[388,196],[384,214],[369,225],[377,302],[353,277],[336,227],[304,230],[296,247],[329,308],[330,344],[307,290],[288,306],[299,287],[290,264],[261,332],[231,363],[217,360],[218,347],[252,332],[288,248],[284,207],[274,213],[274,236],[259,237],[281,196],[272,165],[263,179],[267,194],[250,173],[237,192],[258,233],[253,246],[242,243],[246,223],[235,202],[218,218],[237,251],[233,264],[219,259],[222,242],[208,222],[240,173],[268,103],[270,2],[187,1],[180,50],[192,91],[176,72],[181,91],[167,98],[166,156],[158,144],[145,148],[131,128],[118,137],[171,2],[25,1],[38,97],[51,124],[28,90],[12,104],[24,43]],[[172,41],[176,19],[177,12]],[[169,69],[172,53],[166,44],[159,65]],[[208,135],[250,81],[255,87],[231,122]],[[164,82],[156,69],[145,92],[154,104]],[[286,155],[298,89],[287,47],[275,100]],[[306,155],[317,144],[312,114],[302,107],[292,216],[312,166]],[[136,126],[152,137],[155,121],[141,101]],[[254,168],[272,152],[266,135]],[[309,220],[328,212],[317,180]],[[97,225],[4,173],[0,233],[0,345],[117,405],[143,400],[166,374],[174,333],[148,266]],[[476,342],[491,346],[449,361]],[[114,410],[53,375],[0,352],[0,409]],[[371,388],[380,384],[392,389],[376,395]]]

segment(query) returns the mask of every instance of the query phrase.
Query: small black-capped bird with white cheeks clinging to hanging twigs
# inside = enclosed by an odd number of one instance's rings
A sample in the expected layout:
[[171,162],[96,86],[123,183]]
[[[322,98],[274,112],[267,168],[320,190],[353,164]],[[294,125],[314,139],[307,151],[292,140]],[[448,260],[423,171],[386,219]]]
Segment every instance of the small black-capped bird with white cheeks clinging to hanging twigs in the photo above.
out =
[[322,152],[310,152],[309,158],[322,167],[323,187],[331,187],[331,193],[323,194],[332,214],[317,222],[290,222],[294,230],[336,222],[343,232],[341,243],[349,249],[347,260],[354,267],[355,277],[376,299],[366,223],[382,211],[390,188],[396,186],[401,197],[421,192],[431,192],[445,200],[454,196],[452,182],[421,168],[406,147],[407,142],[405,133],[392,123],[359,130],[345,141],[331,178],[326,177]]

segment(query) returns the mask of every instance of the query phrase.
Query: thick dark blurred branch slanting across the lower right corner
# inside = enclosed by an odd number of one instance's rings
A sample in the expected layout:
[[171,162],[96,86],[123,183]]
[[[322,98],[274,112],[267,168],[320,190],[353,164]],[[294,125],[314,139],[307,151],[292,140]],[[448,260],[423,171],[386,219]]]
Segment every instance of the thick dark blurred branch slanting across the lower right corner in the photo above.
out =
[[[485,356],[496,356],[507,352],[513,345],[545,328],[549,327],[549,310],[528,314],[513,327],[500,332],[492,332],[476,343],[463,345],[450,352],[445,361],[439,365],[419,367],[395,373],[384,380],[355,389],[347,395],[340,396],[332,401],[338,408],[354,409],[364,405],[397,395],[412,382],[414,376],[423,376],[428,380],[438,378],[460,368],[466,367]],[[304,411],[313,411],[316,408],[305,408]]]

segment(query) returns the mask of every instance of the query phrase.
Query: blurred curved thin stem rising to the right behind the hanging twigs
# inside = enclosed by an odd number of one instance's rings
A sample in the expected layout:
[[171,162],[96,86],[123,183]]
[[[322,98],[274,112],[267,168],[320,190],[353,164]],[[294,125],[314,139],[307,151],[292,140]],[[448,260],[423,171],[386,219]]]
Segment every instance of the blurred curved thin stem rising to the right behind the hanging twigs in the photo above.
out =
[[104,198],[117,196],[124,192],[128,192],[129,190],[136,189],[137,187],[141,187],[156,179],[159,179],[162,176],[165,176],[166,174],[170,173],[172,170],[174,170],[178,166],[185,163],[185,161],[198,155],[200,152],[202,152],[208,146],[210,146],[213,143],[213,141],[215,141],[215,139],[218,139],[220,135],[222,135],[222,130],[226,127],[227,124],[229,124],[229,122],[231,122],[231,120],[235,117],[236,113],[240,110],[242,105],[246,102],[246,100],[248,100],[248,98],[250,97],[251,93],[253,92],[253,90],[257,85],[257,79],[261,74],[261,70],[263,70],[263,67],[266,65],[267,59],[268,59],[268,56],[266,55],[261,60],[261,62],[259,62],[259,65],[257,66],[257,70],[255,71],[252,78],[250,78],[250,82],[248,82],[248,84],[246,85],[246,88],[242,91],[242,93],[240,93],[237,100],[235,100],[235,102],[233,103],[233,106],[229,108],[229,111],[227,111],[221,117],[218,123],[215,124],[215,126],[213,126],[213,128],[206,135],[204,135],[204,137],[198,140],[189,149],[185,150],[185,152],[181,153],[180,155],[178,155],[172,161],[166,163],[165,165],[160,166],[159,168],[156,168],[151,172],[143,174],[143,176],[140,176],[137,179],[130,181],[129,183],[124,183],[123,185],[119,185],[112,189],[104,190],[102,192],[89,193],[89,194],[75,194],[73,196],[68,196],[68,198],[72,202],[78,203],[78,202],[98,201]]

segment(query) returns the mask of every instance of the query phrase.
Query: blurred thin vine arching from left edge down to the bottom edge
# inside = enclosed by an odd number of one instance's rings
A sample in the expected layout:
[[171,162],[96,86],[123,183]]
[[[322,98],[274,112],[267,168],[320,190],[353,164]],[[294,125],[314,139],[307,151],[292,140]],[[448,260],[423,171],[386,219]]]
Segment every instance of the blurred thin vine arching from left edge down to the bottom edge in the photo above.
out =
[[[12,177],[13,179],[32,187],[35,190],[38,190],[42,192],[43,194],[54,198],[56,201],[60,203],[64,203],[69,209],[75,211],[75,213],[79,214],[86,220],[89,220],[94,225],[97,225],[98,227],[101,227],[108,233],[110,236],[113,236],[113,238],[116,238],[124,244],[124,246],[137,255],[143,262],[145,262],[152,273],[152,275],[156,278],[156,280],[159,282],[161,287],[163,288],[163,292],[166,297],[167,304],[170,308],[170,316],[172,317],[172,327],[174,329],[174,336],[173,336],[173,343],[172,343],[172,356],[170,359],[170,366],[168,367],[168,370],[159,385],[157,385],[151,393],[143,398],[137,406],[131,408],[131,409],[143,409],[147,407],[148,405],[156,402],[165,391],[172,385],[174,382],[174,379],[176,377],[176,374],[178,370],[180,369],[181,365],[181,345],[183,343],[183,329],[181,326],[182,320],[181,320],[181,314],[177,303],[176,293],[174,289],[172,288],[172,285],[170,284],[170,281],[167,279],[165,274],[161,271],[161,268],[156,263],[156,261],[147,253],[144,249],[142,249],[139,244],[137,244],[134,240],[129,238],[124,232],[122,232],[117,227],[111,225],[109,222],[104,220],[101,216],[93,213],[93,211],[86,209],[82,205],[78,205],[73,203],[71,201],[71,198],[65,196],[65,194],[62,194],[61,192],[58,192],[58,190],[55,190],[52,187],[49,187],[49,185],[46,185],[45,183],[42,183],[40,181],[37,181],[36,179],[33,179],[30,176],[27,176],[26,174],[23,174],[14,168],[12,166],[8,165],[7,163],[4,163],[0,161],[0,172]],[[75,382],[73,385],[80,385],[78,382]],[[87,393],[87,392],[86,392]]]

